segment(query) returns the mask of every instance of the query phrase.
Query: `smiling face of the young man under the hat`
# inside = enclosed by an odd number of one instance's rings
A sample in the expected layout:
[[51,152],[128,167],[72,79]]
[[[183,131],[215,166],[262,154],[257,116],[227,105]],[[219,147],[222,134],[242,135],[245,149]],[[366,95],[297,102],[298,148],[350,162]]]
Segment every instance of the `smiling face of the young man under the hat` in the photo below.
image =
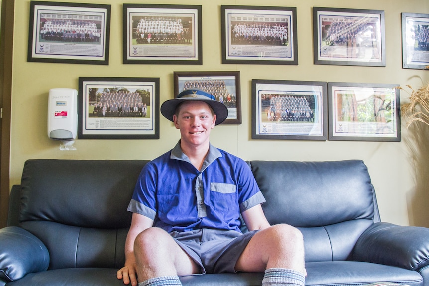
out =
[[216,115],[202,101],[183,102],[177,107],[173,122],[180,130],[181,144],[188,147],[209,146],[209,136],[216,123]]

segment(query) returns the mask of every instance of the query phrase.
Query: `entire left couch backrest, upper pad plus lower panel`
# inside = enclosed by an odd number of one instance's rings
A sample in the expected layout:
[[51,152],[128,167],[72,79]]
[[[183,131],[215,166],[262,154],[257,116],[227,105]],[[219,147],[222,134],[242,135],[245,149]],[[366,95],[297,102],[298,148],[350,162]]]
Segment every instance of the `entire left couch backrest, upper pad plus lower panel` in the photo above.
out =
[[145,160],[28,160],[20,224],[50,254],[49,269],[122,267],[126,209]]

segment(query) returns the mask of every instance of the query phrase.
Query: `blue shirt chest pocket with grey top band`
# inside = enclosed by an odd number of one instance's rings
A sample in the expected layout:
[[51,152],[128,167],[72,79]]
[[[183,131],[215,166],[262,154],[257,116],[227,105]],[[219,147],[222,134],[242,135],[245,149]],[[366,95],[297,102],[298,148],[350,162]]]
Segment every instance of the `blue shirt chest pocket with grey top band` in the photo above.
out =
[[215,210],[237,210],[236,186],[227,183],[210,183],[210,204]]

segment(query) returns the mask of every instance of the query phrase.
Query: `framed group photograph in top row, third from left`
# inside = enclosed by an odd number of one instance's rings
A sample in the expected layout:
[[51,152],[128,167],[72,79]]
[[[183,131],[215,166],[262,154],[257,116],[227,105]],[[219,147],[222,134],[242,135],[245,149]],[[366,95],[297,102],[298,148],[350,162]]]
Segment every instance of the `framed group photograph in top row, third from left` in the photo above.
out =
[[220,9],[222,64],[298,65],[295,7]]

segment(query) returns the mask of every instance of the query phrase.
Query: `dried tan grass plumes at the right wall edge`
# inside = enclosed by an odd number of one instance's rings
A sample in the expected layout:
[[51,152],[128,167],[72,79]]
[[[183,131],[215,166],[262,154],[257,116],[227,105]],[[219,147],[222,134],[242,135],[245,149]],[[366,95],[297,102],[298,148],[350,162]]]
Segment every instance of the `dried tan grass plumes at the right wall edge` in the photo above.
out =
[[[429,69],[426,66],[425,69]],[[429,84],[422,86],[419,89],[413,89],[410,85],[407,85],[411,89],[410,102],[405,103],[401,106],[401,113],[407,120],[407,127],[415,121],[420,121],[429,126]],[[403,88],[398,87],[403,90]]]

